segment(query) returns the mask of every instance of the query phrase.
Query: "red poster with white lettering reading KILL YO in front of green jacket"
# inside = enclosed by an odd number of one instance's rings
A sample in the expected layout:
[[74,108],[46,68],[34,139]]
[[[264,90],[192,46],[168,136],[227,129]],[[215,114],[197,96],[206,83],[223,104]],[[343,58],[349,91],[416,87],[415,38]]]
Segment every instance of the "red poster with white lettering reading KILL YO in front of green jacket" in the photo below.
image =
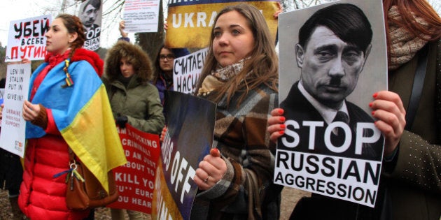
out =
[[113,169],[119,198],[108,207],[151,214],[156,162],[160,156],[159,135],[126,124],[118,133],[127,163]]

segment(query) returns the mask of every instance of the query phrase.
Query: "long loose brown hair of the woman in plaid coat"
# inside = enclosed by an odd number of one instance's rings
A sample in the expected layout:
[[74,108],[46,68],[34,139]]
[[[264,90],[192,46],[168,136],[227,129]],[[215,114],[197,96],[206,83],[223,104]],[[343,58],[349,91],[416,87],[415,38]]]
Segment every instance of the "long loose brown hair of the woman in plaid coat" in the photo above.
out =
[[[278,91],[279,58],[274,50],[274,39],[271,34],[269,34],[267,22],[262,13],[260,13],[260,10],[246,3],[226,6],[216,16],[214,24],[216,24],[221,15],[230,11],[237,11],[245,17],[251,31],[253,31],[255,44],[251,51],[250,59],[245,61],[244,68],[242,68],[241,72],[228,80],[228,82],[225,83],[225,86],[215,89],[217,95],[214,98],[214,101],[220,101],[226,94],[227,103],[230,104],[230,99],[233,94],[235,94],[236,91],[241,90],[244,92],[239,96],[239,101],[237,101],[237,105],[239,106],[241,101],[248,94],[248,91],[255,89],[262,83],[274,91]],[[213,52],[213,41],[214,26],[211,29],[209,51],[207,52],[207,58],[205,59],[200,79],[197,82],[197,89],[202,87],[202,82],[207,75],[211,74],[211,71],[215,71],[218,67],[218,61],[216,61]],[[197,94],[197,90],[195,92]]]

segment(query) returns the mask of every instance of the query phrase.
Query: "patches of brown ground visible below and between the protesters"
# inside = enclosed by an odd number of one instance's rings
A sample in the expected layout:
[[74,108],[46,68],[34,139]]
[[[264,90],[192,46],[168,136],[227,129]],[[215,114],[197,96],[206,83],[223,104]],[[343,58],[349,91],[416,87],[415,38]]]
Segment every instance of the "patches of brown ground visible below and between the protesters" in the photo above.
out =
[[[286,220],[289,218],[291,212],[293,211],[293,207],[295,203],[297,203],[297,200],[302,198],[302,196],[309,196],[310,193],[307,193],[305,191],[300,191],[297,189],[287,188],[285,187],[283,191],[281,192],[282,199],[281,199],[281,220]],[[8,220],[12,219],[12,214],[10,211],[10,205],[8,201],[8,193],[7,191],[0,189],[0,220]],[[98,208],[95,211],[95,219],[97,220],[107,220],[111,219],[110,210],[108,208],[102,207]],[[144,219],[150,219],[150,216],[148,214],[145,215]]]

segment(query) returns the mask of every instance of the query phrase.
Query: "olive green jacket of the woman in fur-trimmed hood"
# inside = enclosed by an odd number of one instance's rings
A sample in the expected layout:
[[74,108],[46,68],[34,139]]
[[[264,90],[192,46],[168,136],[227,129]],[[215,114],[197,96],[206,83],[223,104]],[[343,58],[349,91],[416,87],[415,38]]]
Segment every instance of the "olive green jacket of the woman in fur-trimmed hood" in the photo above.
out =
[[146,133],[160,134],[165,124],[158,89],[150,83],[142,84],[135,74],[127,88],[119,80],[103,78],[113,117],[125,115],[128,123]]

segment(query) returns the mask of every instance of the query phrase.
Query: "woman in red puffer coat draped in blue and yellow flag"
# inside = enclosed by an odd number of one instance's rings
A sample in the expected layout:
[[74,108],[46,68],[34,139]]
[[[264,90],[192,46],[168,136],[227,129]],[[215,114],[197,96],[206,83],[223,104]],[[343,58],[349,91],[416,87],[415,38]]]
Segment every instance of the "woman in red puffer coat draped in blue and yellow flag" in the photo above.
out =
[[124,164],[125,156],[99,78],[103,61],[81,48],[83,24],[76,16],[58,15],[45,36],[48,55],[32,74],[29,101],[23,103],[27,147],[19,205],[33,220],[84,219],[90,210],[66,206],[69,151],[105,189],[107,172]]

